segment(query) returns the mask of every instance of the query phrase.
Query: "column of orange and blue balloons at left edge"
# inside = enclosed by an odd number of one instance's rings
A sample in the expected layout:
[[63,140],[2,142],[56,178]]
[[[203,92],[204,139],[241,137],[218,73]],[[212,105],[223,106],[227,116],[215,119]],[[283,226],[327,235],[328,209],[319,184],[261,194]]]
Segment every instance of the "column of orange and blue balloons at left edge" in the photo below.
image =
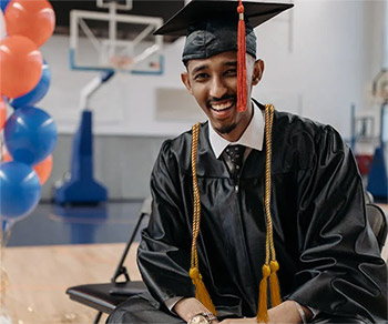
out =
[[[37,206],[52,169],[57,126],[34,107],[50,85],[50,68],[39,48],[54,30],[52,6],[48,0],[0,1],[1,232]],[[7,103],[14,109],[8,119]]]

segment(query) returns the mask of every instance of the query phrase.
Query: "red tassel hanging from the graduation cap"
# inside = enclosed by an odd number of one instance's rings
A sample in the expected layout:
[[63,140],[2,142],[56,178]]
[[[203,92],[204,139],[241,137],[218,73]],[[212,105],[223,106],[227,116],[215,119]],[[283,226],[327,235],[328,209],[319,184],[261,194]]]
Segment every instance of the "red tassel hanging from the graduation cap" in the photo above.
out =
[[246,110],[247,89],[246,89],[246,40],[245,40],[245,20],[244,20],[244,4],[239,0],[237,12],[238,19],[238,34],[237,34],[237,111]]

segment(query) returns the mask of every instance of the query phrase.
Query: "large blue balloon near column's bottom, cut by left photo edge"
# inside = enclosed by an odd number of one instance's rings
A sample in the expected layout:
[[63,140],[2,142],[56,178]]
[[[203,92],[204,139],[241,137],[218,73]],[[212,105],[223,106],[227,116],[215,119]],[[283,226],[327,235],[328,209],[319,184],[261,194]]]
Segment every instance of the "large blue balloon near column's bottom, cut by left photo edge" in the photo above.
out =
[[40,199],[39,178],[30,165],[11,161],[0,164],[0,219],[30,214]]

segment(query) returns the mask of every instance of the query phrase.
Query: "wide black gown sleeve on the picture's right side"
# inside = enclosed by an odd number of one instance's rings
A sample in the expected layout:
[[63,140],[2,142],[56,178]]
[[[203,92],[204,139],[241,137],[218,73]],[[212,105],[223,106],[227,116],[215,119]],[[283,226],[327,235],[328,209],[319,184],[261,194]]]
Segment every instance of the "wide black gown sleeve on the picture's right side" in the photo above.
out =
[[288,296],[319,312],[387,322],[387,265],[366,217],[349,148],[330,126],[297,175],[300,269]]

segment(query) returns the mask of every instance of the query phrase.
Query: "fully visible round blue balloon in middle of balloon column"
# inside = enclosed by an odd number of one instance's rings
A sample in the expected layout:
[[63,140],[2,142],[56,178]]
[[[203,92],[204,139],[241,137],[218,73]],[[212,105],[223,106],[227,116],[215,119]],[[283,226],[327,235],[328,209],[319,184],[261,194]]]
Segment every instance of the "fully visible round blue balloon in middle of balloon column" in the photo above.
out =
[[54,120],[43,110],[21,107],[4,125],[7,151],[14,161],[37,164],[51,154],[57,144]]

